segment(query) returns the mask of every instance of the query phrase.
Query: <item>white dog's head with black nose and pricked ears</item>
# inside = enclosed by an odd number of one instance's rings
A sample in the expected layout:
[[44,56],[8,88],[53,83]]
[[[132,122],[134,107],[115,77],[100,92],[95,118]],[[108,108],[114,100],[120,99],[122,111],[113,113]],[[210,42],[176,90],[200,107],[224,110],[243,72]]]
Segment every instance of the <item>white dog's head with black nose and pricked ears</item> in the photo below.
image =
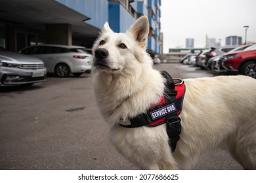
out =
[[141,16],[126,33],[114,33],[108,22],[93,46],[93,69],[105,73],[122,73],[128,67],[143,62],[149,33],[148,18]]

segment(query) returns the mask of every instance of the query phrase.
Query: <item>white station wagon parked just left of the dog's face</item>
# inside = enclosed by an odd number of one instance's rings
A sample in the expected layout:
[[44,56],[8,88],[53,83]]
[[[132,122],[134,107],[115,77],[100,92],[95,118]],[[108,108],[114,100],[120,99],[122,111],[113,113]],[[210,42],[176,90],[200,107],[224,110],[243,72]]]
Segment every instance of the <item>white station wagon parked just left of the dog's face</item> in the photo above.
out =
[[81,76],[91,72],[91,54],[82,46],[65,46],[56,44],[39,44],[20,50],[20,53],[42,59],[47,73],[60,77]]

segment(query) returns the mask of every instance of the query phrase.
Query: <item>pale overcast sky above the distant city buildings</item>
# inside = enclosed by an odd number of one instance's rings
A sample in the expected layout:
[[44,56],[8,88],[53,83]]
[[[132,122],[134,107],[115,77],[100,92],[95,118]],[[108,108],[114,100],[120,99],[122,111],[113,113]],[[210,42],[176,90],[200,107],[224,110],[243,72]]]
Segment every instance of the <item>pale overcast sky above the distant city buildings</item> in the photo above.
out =
[[163,52],[186,47],[186,38],[194,38],[194,47],[204,47],[205,37],[221,39],[231,35],[256,42],[256,0],[161,0]]

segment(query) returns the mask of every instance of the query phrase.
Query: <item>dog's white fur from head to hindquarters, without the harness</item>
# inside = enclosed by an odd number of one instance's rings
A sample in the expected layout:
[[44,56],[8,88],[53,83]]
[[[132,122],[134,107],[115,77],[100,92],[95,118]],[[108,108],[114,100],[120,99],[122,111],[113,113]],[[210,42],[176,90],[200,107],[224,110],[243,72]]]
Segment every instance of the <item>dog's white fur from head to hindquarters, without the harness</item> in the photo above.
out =
[[[191,169],[205,150],[223,144],[244,169],[256,169],[256,80],[247,76],[185,79],[181,140],[174,153],[165,124],[125,128],[163,95],[165,79],[145,52],[148,18],[126,33],[108,23],[93,46],[108,50],[106,67],[93,58],[93,84],[100,112],[110,125],[110,142],[140,169]],[[125,47],[120,46],[125,44]]]

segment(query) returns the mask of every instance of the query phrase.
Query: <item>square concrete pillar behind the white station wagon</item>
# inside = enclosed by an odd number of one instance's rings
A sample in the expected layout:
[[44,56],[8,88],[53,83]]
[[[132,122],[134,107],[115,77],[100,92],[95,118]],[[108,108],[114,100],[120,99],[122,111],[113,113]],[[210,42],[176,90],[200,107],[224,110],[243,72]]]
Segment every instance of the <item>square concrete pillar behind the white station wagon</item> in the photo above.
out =
[[72,45],[72,25],[46,24],[46,43]]

